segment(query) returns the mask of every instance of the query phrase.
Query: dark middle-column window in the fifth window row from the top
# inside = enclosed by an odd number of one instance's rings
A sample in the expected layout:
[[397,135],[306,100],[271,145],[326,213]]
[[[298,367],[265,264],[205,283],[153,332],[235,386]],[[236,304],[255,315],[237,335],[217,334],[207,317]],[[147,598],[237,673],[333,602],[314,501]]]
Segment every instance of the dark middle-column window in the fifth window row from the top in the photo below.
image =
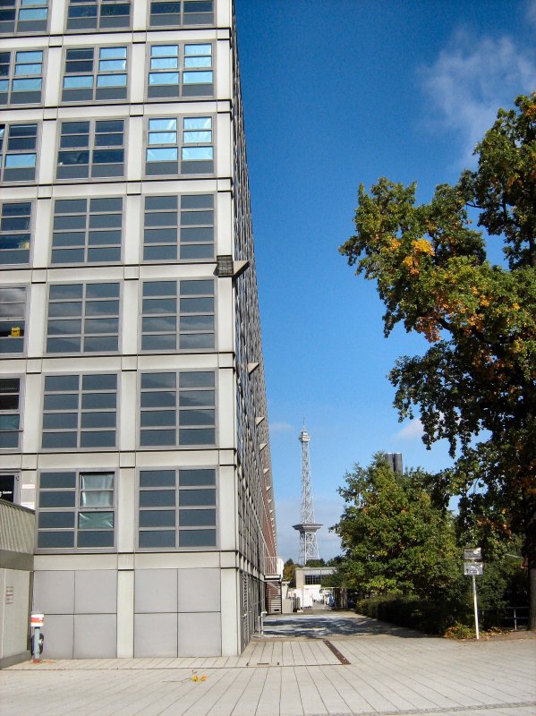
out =
[[114,353],[119,284],[55,284],[48,292],[47,353]]

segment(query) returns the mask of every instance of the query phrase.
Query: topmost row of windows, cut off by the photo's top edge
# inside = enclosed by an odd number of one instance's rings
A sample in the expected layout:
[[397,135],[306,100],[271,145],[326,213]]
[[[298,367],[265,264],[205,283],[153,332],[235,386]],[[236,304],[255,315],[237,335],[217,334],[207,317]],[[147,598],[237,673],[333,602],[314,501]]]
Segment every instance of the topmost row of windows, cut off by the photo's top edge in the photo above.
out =
[[[46,33],[48,0],[3,0],[0,34]],[[67,32],[130,30],[132,3],[128,0],[69,0]],[[214,24],[213,0],[151,0],[149,29]]]

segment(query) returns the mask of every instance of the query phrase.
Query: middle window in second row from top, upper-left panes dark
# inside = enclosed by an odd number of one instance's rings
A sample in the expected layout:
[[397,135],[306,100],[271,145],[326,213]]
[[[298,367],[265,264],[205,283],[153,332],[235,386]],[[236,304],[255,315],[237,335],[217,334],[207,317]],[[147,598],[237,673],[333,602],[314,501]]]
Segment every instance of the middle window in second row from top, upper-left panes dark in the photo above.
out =
[[74,47],[65,52],[63,102],[126,98],[127,48]]

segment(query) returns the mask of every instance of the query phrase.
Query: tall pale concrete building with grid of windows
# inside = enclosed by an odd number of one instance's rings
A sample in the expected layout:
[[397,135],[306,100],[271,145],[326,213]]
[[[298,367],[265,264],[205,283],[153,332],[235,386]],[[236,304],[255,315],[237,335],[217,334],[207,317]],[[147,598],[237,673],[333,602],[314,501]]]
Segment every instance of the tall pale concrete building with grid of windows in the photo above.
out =
[[0,33],[0,480],[44,656],[238,654],[277,546],[232,0]]

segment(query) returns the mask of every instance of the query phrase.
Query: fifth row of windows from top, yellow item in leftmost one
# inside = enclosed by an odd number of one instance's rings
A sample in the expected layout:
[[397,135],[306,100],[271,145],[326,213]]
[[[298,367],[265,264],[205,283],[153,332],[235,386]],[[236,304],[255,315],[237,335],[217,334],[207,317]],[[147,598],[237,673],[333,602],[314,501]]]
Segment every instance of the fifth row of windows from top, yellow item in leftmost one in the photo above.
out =
[[[54,284],[48,290],[47,354],[119,351],[119,282]],[[23,354],[26,286],[0,288],[0,354]],[[216,347],[214,279],[145,281],[140,350],[176,353]]]

